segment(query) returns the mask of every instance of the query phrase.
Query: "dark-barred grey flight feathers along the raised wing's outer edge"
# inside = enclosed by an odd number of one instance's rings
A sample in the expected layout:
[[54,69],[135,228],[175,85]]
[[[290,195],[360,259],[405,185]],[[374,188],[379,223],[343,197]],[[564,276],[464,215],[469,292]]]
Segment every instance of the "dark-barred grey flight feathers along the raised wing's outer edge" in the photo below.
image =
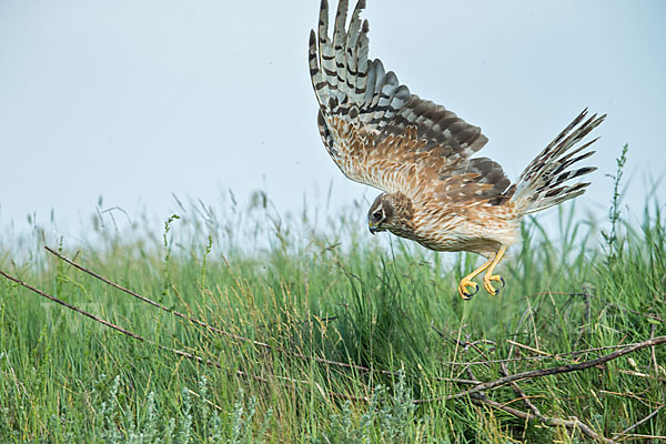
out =
[[[478,127],[466,123],[442,105],[412,94],[393,71],[386,72],[379,59],[369,60],[370,27],[360,17],[364,8],[365,1],[356,3],[345,29],[349,1],[340,1],[330,37],[329,4],[322,1],[319,36],[312,31],[310,38],[310,73],[321,107],[319,124],[329,127],[320,128],[320,132],[339,167],[343,164],[350,141],[345,134],[336,138],[336,132],[331,130],[336,118],[355,125],[360,134],[370,135],[373,145],[413,128],[420,143],[403,149],[430,151],[443,147],[441,152],[445,157],[440,160],[441,169],[457,158],[467,159],[483,148],[487,139]],[[406,153],[396,154],[404,157]],[[354,180],[367,183],[362,175]],[[384,188],[391,188],[391,184],[384,184]]]

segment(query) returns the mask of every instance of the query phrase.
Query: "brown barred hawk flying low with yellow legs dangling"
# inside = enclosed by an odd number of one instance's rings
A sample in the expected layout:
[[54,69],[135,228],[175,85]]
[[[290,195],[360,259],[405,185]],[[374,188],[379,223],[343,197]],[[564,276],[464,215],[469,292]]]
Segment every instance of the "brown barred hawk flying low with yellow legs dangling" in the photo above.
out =
[[322,0],[319,32],[310,33],[324,147],[344,175],[383,191],[367,212],[371,233],[390,231],[431,250],[481,254],[486,262],[463,278],[458,293],[476,294],[472,280],[485,271],[484,289],[497,294],[504,280],[494,271],[518,242],[521,218],[574,199],[589,185],[569,181],[596,170],[578,167],[596,141],[582,140],[605,115],[588,118],[584,110],[512,183],[497,162],[473,157],[487,142],[478,127],[412,94],[379,59],[369,59],[364,8],[360,0],[347,26],[349,1],[340,0],[329,36],[329,4]]

